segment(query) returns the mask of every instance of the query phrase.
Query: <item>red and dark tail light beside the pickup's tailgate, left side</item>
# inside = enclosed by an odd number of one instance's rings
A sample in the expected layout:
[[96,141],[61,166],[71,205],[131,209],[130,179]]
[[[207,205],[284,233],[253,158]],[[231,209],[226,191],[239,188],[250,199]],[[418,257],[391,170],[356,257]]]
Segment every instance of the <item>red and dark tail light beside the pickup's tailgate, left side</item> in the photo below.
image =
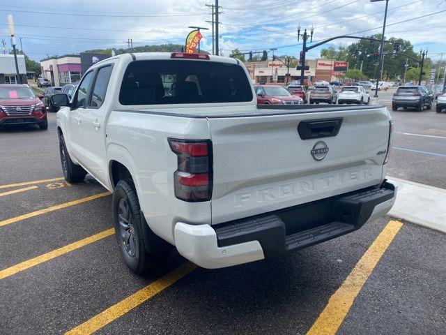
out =
[[176,198],[187,202],[209,201],[213,188],[212,142],[169,138],[169,145],[178,157],[174,172]]

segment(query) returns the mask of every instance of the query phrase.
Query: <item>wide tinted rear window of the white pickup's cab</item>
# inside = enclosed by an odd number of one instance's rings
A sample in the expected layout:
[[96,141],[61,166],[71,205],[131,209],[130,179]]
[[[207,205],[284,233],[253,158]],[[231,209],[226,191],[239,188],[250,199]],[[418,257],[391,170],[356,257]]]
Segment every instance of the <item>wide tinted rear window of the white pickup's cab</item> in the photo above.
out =
[[213,61],[133,61],[123,77],[121,105],[252,101],[245,71]]

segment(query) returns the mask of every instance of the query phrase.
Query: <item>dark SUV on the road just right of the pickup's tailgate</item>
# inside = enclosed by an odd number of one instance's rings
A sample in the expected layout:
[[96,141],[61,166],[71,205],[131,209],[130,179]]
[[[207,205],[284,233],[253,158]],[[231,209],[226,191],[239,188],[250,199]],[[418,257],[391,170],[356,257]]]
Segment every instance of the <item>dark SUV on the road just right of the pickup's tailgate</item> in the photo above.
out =
[[433,94],[429,93],[425,86],[400,86],[393,95],[392,110],[403,107],[404,110],[415,108],[421,112],[424,106],[431,110],[433,98]]

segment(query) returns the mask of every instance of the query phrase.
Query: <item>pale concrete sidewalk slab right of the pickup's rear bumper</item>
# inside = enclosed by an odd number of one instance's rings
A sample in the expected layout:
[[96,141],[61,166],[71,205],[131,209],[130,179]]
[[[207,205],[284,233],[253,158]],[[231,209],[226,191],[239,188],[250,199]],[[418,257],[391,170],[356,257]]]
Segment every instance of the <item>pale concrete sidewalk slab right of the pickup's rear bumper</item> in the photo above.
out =
[[394,177],[388,179],[399,186],[390,216],[446,232],[446,190]]

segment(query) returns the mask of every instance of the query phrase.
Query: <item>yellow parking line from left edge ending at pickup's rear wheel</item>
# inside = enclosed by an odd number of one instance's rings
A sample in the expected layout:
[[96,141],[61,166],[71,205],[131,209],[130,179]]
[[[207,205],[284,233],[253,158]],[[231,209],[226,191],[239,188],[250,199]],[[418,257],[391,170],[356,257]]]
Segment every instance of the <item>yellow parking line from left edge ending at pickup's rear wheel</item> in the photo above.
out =
[[91,244],[95,241],[110,236],[113,233],[114,233],[114,228],[110,228],[104,230],[103,232],[99,232],[98,234],[86,237],[85,239],[80,239],[79,241],[75,241],[66,246],[62,246],[61,248],[49,251],[48,253],[44,253],[43,255],[31,258],[29,260],[25,260],[24,262],[21,262],[17,265],[13,265],[12,267],[7,267],[6,269],[0,271],[0,279],[12,276],[13,274],[17,274],[17,272],[29,269],[30,267],[39,265],[40,263],[46,262],[47,260],[52,260],[53,258],[63,255],[64,253],[69,253],[70,251],[81,248],[82,246],[86,246],[87,244]]

